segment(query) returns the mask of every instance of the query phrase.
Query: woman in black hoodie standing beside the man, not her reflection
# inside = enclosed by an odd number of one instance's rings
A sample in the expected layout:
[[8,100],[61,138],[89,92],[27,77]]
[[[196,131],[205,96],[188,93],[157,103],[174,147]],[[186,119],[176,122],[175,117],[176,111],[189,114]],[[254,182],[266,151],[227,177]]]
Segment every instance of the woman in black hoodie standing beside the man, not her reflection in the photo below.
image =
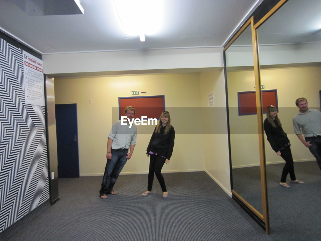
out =
[[151,140],[149,141],[146,155],[149,157],[148,185],[147,191],[143,196],[152,194],[152,185],[154,173],[160,183],[163,191],[163,198],[168,198],[169,194],[163,175],[160,173],[164,163],[169,163],[169,159],[173,153],[175,139],[174,127],[170,124],[170,115],[168,111],[164,111],[160,115],[160,121],[155,127]]

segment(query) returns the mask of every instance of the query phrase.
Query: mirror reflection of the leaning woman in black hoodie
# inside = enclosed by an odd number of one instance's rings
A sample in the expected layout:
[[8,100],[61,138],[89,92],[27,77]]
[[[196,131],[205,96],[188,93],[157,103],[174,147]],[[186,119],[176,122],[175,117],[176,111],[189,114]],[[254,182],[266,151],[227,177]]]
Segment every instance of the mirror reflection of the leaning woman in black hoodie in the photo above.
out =
[[291,183],[304,184],[296,179],[294,174],[293,158],[290,149],[290,140],[282,129],[281,121],[278,117],[278,112],[273,105],[266,109],[266,119],[264,120],[264,130],[267,140],[270,142],[272,149],[277,155],[282,156],[285,165],[282,170],[280,186],[290,188],[286,183],[286,176],[290,174]]

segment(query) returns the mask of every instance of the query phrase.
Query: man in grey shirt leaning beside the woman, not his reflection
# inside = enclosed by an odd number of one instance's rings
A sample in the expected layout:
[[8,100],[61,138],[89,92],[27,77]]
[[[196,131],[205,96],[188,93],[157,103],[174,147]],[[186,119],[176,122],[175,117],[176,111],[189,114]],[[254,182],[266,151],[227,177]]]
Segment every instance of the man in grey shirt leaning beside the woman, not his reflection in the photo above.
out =
[[[100,188],[100,198],[107,199],[107,194],[117,194],[113,190],[114,184],[126,164],[127,160],[133,155],[137,138],[137,127],[129,125],[132,122],[135,109],[132,106],[125,108],[127,121],[116,121],[110,130],[107,141],[107,164]],[[130,152],[128,153],[128,149]]]

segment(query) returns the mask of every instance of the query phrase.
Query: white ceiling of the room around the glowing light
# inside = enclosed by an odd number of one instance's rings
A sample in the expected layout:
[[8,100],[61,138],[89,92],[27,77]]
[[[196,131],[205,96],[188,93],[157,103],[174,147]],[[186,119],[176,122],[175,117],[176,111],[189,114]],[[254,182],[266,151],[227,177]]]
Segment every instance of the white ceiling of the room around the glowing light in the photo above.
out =
[[262,0],[161,1],[165,4],[163,29],[157,35],[146,36],[145,42],[140,42],[138,36],[126,36],[113,0],[80,0],[83,15],[46,16],[29,16],[13,1],[0,0],[0,29],[41,54],[221,47]]

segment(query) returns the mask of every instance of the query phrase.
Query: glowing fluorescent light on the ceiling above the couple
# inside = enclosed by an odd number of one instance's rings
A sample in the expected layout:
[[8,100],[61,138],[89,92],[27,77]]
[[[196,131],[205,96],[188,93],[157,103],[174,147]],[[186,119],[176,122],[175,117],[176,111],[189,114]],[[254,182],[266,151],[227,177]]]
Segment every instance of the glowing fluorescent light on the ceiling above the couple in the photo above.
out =
[[[120,21],[128,36],[153,35],[163,24],[163,0],[114,0]],[[143,40],[142,40],[143,39]]]

